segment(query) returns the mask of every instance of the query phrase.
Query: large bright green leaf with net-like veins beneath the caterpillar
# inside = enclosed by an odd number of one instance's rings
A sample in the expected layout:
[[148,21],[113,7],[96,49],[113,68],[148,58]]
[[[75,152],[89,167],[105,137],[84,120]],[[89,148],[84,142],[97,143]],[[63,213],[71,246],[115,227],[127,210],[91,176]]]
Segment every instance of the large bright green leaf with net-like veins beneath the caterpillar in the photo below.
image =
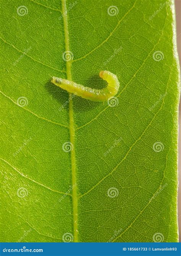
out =
[[[173,1],[3,0],[1,17],[1,240],[178,241]],[[50,82],[103,88],[101,70],[109,102]]]

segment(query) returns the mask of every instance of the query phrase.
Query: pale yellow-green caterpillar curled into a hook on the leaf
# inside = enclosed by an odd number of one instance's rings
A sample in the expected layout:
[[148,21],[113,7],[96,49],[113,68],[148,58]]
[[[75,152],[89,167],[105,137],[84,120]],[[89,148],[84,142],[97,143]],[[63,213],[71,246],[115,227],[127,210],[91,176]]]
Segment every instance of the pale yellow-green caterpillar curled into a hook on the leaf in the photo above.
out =
[[84,99],[89,99],[91,101],[107,101],[110,97],[117,94],[120,83],[117,76],[110,71],[100,71],[99,76],[107,81],[108,86],[106,88],[99,90],[92,89],[81,84],[76,84],[73,81],[57,78],[55,76],[53,76],[51,82],[61,87],[62,89],[74,93]]

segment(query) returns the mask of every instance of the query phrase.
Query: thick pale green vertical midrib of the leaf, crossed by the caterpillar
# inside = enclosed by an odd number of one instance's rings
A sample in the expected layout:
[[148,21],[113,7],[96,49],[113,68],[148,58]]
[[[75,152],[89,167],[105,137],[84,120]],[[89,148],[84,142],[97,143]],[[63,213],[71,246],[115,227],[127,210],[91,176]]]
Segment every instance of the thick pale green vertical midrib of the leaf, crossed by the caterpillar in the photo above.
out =
[[[68,18],[66,9],[66,0],[61,0],[62,13],[63,13],[63,28],[65,35],[65,51],[70,51],[69,48],[69,36],[68,36]],[[66,61],[66,76],[68,80],[72,80],[71,76],[71,61]],[[77,184],[76,184],[76,155],[75,155],[75,129],[73,119],[73,97],[69,93],[69,134],[70,143],[73,148],[70,151],[71,154],[71,174],[72,174],[72,203],[73,203],[73,241],[78,242],[78,196],[77,196]]]

